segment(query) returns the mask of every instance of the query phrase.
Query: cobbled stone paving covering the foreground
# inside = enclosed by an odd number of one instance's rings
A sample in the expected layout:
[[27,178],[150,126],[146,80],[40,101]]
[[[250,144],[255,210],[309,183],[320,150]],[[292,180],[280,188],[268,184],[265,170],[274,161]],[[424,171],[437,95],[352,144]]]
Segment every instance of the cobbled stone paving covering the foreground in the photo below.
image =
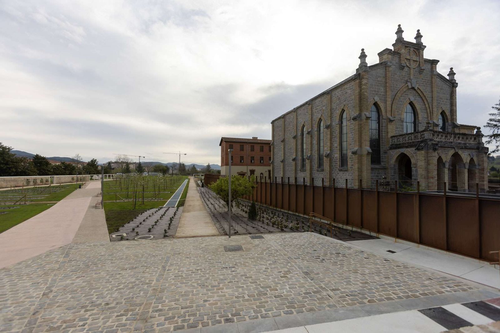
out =
[[367,316],[367,304],[496,295],[313,233],[69,244],[1,269],[0,282],[1,332],[217,332],[228,324],[241,332],[279,317]]

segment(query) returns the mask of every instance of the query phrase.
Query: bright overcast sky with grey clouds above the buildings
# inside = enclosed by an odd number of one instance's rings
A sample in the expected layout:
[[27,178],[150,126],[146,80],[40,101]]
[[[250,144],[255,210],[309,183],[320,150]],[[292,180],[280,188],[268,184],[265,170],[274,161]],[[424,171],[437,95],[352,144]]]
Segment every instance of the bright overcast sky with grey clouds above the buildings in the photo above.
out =
[[500,99],[500,1],[0,0],[0,142],[44,156],[220,164],[416,29],[456,72],[458,122]]

